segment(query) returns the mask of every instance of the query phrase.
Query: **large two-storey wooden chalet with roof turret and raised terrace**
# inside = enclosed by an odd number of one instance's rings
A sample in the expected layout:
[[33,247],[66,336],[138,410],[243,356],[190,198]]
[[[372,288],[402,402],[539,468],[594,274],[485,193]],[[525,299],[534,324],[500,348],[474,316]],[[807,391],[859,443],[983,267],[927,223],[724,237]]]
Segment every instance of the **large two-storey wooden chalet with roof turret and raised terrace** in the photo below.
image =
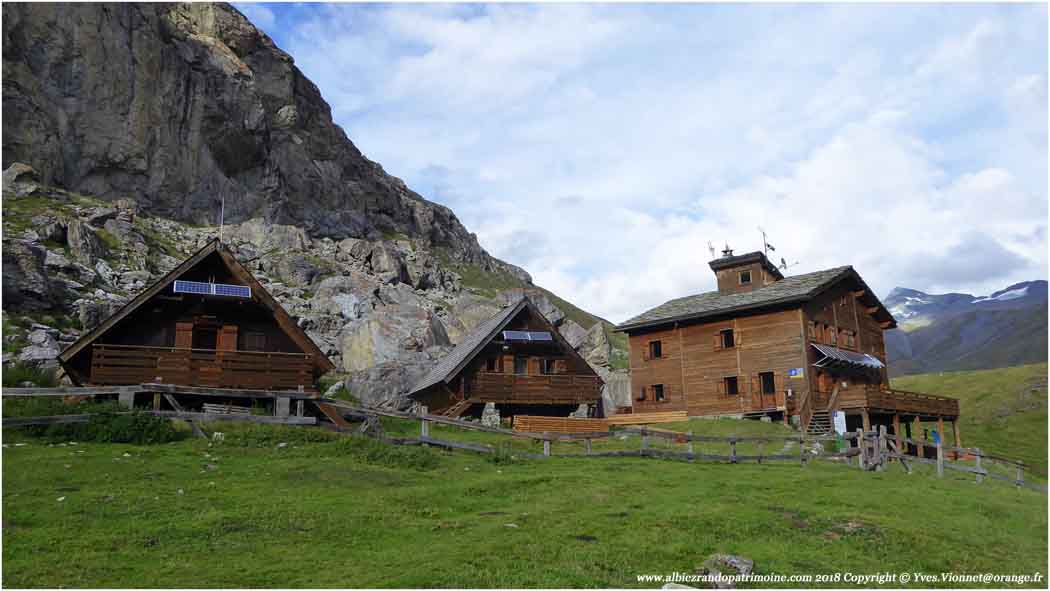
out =
[[620,324],[634,411],[792,418],[826,432],[954,423],[959,401],[889,387],[883,331],[897,325],[853,267],[784,277],[761,252],[710,262],[718,291],[673,299]]

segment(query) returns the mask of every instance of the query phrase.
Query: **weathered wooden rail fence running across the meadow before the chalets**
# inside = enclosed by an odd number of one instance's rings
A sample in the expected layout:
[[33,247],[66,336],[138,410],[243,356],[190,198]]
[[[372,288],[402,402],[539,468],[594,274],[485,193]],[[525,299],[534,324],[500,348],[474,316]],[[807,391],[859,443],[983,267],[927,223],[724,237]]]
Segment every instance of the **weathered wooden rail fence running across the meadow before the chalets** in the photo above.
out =
[[[28,392],[33,391],[33,392]],[[90,391],[90,392],[86,392]],[[212,414],[212,413],[194,413],[187,411],[183,409],[175,399],[175,395],[191,395],[194,397],[201,396],[211,396],[211,397],[226,397],[229,396],[228,392],[225,391],[214,391],[212,388],[192,388],[192,392],[188,392],[187,388],[182,386],[171,386],[171,385],[158,385],[158,384],[143,384],[142,386],[134,386],[133,388],[121,387],[103,387],[103,388],[4,388],[2,395],[13,396],[13,397],[24,397],[24,396],[101,396],[101,395],[127,395],[141,392],[152,392],[155,394],[156,399],[160,397],[165,397],[170,405],[175,408],[174,410],[161,410],[158,405],[154,404],[153,409],[144,410],[151,415],[158,417],[166,417],[170,419],[180,419],[185,421],[190,421],[194,427],[197,435],[204,436],[203,431],[198,428],[198,423],[208,421],[244,421],[244,422],[255,422],[255,423],[268,423],[268,424],[289,424],[289,425],[317,425],[318,421],[316,417],[308,417],[303,414],[303,404],[312,403],[317,406],[318,409],[327,410],[322,416],[329,417],[333,411],[340,416],[340,418],[351,417],[354,419],[363,419],[365,423],[370,420],[376,420],[378,417],[392,417],[398,419],[408,419],[419,421],[420,434],[416,438],[387,438],[382,437],[384,441],[394,444],[401,445],[434,445],[438,447],[444,447],[448,449],[463,449],[469,451],[477,451],[482,453],[494,453],[501,451],[498,447],[479,443],[467,443],[462,441],[452,441],[443,440],[440,438],[433,437],[430,435],[430,425],[440,424],[453,426],[456,428],[461,428],[464,430],[481,431],[495,435],[505,436],[507,438],[516,439],[528,439],[533,441],[541,441],[543,443],[543,453],[533,453],[528,451],[516,450],[513,453],[521,455],[524,457],[534,457],[534,458],[549,458],[553,456],[552,446],[558,442],[571,442],[579,445],[580,442],[584,443],[585,450],[583,453],[562,453],[558,457],[569,457],[569,458],[601,458],[601,457],[642,457],[642,458],[657,458],[657,459],[668,459],[668,460],[682,460],[689,462],[695,461],[709,461],[709,462],[723,462],[729,464],[739,464],[743,462],[757,462],[759,464],[765,462],[774,461],[788,461],[788,462],[798,462],[801,465],[805,465],[807,462],[813,460],[845,460],[853,463],[854,458],[858,458],[857,465],[863,470],[876,470],[881,471],[887,469],[887,466],[891,461],[898,462],[901,467],[908,472],[912,470],[911,463],[923,463],[936,466],[936,473],[938,477],[944,476],[944,470],[956,470],[966,473],[972,473],[976,482],[983,482],[985,478],[990,478],[994,480],[1003,480],[1011,482],[1018,487],[1027,487],[1034,490],[1040,490],[1042,492],[1047,492],[1047,487],[1045,485],[1033,484],[1026,482],[1024,478],[1024,462],[1003,458],[1001,456],[991,455],[984,452],[979,448],[964,448],[964,447],[951,447],[946,446],[940,442],[930,442],[925,440],[910,440],[902,439],[902,443],[907,443],[916,445],[917,448],[925,449],[927,446],[932,446],[936,449],[936,459],[931,458],[921,458],[917,456],[909,456],[902,452],[898,448],[898,439],[896,436],[888,436],[886,434],[886,427],[880,426],[877,431],[853,431],[840,436],[821,436],[821,437],[811,437],[806,436],[804,432],[800,432],[795,436],[781,436],[781,437],[715,437],[715,436],[705,436],[705,435],[694,435],[692,432],[677,432],[669,431],[658,428],[650,428],[648,426],[620,426],[616,430],[610,430],[606,428],[604,430],[587,430],[584,432],[558,432],[553,429],[545,430],[543,432],[527,432],[523,430],[510,430],[502,427],[486,426],[479,423],[461,421],[457,419],[450,419],[447,417],[430,415],[426,411],[426,407],[419,407],[416,413],[406,413],[401,410],[390,410],[371,407],[360,407],[346,404],[343,402],[329,400],[329,399],[318,399],[312,398],[303,395],[303,393],[298,392],[285,392],[275,393],[268,391],[249,391],[242,392],[239,394],[245,395],[249,398],[275,398],[278,402],[281,400],[285,402],[285,413],[276,413],[276,416],[258,416],[258,415],[245,415],[245,414]],[[290,401],[298,401],[298,409],[295,416],[289,414],[288,406]],[[49,425],[57,423],[74,423],[74,422],[84,422],[89,421],[94,415],[83,414],[83,415],[60,415],[50,417],[18,417],[18,418],[6,418],[3,419],[4,427],[18,427],[26,425]],[[642,415],[634,415],[635,418],[642,417]],[[524,417],[520,417],[522,419]],[[528,418],[541,419],[538,417]],[[549,419],[549,418],[542,418]],[[568,420],[568,419],[562,419]],[[580,421],[582,419],[575,419]],[[343,420],[343,424],[340,425],[333,421],[330,425],[335,430],[346,431],[351,424]],[[606,422],[608,425],[608,422]],[[537,424],[537,426],[542,426],[542,423]],[[556,425],[548,425],[556,426]],[[364,434],[359,429],[359,432]],[[373,434],[368,434],[373,435]],[[636,449],[623,449],[623,450],[608,450],[608,451],[595,451],[592,447],[592,442],[595,440],[608,439],[608,438],[638,438],[638,447]],[[673,449],[659,449],[652,445],[654,441],[663,440],[665,442],[685,444],[685,451],[677,451]],[[840,451],[824,451],[824,443],[832,443],[838,441],[848,441],[850,446],[845,450]],[[694,443],[709,443],[726,445],[726,453],[712,453],[708,451],[696,451],[694,449]],[[771,453],[765,453],[762,451],[762,447],[759,446],[759,452],[741,453],[739,452],[737,446],[741,443],[758,443],[758,444],[782,444],[781,449],[774,450]],[[821,445],[817,445],[821,444]],[[797,451],[792,449],[792,452],[786,452],[793,445],[797,445]],[[947,453],[953,455],[957,460],[950,461],[945,456]],[[961,458],[961,459],[960,459]],[[973,461],[973,465],[967,464],[969,461]],[[987,469],[989,464],[999,464],[1007,466],[1014,472],[1013,478],[1008,478],[1000,473],[989,471]]]

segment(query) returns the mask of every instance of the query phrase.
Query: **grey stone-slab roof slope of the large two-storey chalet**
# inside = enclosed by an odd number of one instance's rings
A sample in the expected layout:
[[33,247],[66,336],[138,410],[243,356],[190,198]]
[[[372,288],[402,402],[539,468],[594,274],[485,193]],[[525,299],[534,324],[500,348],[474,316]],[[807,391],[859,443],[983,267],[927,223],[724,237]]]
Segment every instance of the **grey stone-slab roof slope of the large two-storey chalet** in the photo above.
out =
[[785,277],[763,288],[744,293],[707,292],[679,297],[622,322],[616,326],[616,330],[629,331],[675,320],[801,302],[812,298],[849,273],[856,274],[853,267],[836,267]]

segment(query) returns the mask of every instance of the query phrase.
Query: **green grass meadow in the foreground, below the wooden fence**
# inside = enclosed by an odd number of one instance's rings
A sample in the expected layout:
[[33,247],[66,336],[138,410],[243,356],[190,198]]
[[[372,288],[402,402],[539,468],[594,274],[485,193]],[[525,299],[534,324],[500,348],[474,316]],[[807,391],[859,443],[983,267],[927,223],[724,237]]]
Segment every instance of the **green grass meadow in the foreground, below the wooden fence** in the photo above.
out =
[[[48,446],[5,429],[4,585],[655,587],[636,575],[714,552],[758,573],[1046,572],[1046,497],[953,474],[494,462],[220,428],[215,446]],[[320,440],[293,439],[307,432]]]

